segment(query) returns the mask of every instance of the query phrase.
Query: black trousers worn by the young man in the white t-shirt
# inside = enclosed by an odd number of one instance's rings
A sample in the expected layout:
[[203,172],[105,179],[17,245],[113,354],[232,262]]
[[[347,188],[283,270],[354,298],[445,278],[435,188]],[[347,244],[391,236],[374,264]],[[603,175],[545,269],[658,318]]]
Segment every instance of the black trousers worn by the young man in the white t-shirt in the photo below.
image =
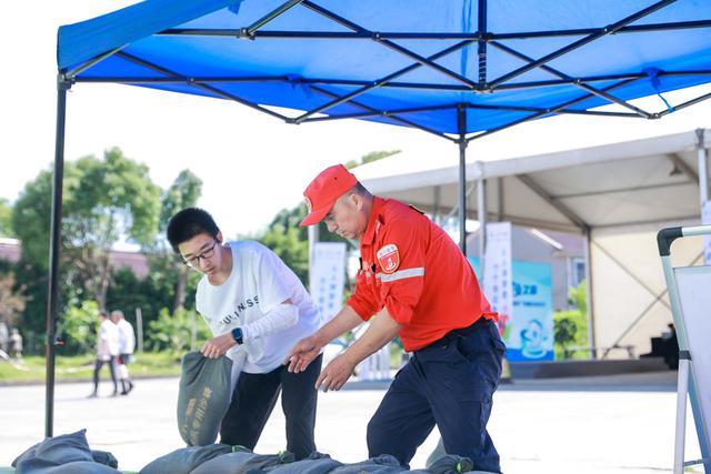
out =
[[316,451],[313,427],[318,392],[313,386],[321,373],[322,359],[319,355],[300,373],[291,373],[284,365],[266,374],[242,372],[220,426],[220,442],[253,450],[281,391],[281,407],[287,418],[287,451],[297,460],[308,457]]

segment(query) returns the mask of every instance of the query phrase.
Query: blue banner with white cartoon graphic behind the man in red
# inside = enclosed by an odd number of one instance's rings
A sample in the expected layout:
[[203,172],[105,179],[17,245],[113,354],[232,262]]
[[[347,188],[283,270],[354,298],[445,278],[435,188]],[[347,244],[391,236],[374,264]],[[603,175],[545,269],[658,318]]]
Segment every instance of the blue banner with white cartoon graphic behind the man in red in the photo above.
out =
[[[477,275],[479,258],[469,258]],[[503,329],[511,362],[553,360],[553,288],[548,263],[512,262],[513,311]],[[489,296],[489,295],[487,295]]]

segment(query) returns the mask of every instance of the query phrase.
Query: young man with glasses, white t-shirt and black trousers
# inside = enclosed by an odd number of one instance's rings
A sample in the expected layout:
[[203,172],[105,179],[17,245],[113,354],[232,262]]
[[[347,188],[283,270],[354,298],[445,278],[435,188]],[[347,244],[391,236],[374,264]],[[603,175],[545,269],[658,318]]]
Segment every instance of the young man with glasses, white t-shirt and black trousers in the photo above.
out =
[[290,373],[282,364],[291,346],[321,325],[321,316],[297,275],[271,250],[253,241],[223,243],[212,216],[183,209],[168,224],[168,241],[183,262],[202,273],[196,306],[214,337],[206,357],[246,353],[246,362],[220,427],[221,443],[254,448],[279,392],[287,418],[287,451],[297,460],[316,451],[316,367]]

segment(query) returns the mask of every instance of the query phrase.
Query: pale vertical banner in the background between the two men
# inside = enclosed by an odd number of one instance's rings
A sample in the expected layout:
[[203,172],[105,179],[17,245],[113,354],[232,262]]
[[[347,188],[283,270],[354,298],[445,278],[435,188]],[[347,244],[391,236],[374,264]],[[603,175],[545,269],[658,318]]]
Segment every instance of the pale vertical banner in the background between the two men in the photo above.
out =
[[309,290],[323,321],[330,321],[343,305],[346,243],[316,242],[312,255]]

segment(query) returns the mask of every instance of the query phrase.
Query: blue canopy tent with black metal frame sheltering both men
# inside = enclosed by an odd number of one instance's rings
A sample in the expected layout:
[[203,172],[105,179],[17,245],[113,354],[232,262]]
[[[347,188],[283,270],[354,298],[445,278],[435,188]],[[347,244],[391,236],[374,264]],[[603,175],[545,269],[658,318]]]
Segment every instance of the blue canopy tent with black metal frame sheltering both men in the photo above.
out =
[[[361,119],[441,137],[459,148],[464,250],[468,144],[553,114],[659,119],[710,98],[671,104],[662,93],[711,80],[711,2],[147,0],[60,28],[58,67],[48,436],[66,93],[74,84],[232,100],[292,124]],[[659,110],[629,102],[652,94]],[[591,110],[611,103],[617,110]]]

